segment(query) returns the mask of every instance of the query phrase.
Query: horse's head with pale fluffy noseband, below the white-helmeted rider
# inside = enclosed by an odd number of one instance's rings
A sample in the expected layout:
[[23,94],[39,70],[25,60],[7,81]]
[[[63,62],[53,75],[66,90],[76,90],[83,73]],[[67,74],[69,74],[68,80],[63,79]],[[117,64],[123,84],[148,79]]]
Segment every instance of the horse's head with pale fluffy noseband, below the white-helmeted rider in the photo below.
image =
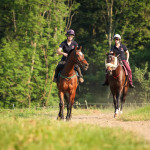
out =
[[107,53],[107,58],[105,60],[105,67],[108,74],[112,74],[113,70],[116,70],[118,67],[118,59],[115,56],[115,53]]

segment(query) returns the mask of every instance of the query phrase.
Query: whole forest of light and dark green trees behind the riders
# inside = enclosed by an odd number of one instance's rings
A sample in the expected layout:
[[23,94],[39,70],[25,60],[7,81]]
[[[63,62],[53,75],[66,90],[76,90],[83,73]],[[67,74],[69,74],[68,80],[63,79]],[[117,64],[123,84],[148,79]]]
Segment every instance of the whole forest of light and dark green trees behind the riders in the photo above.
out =
[[112,102],[109,87],[101,84],[116,33],[130,52],[136,86],[127,102],[150,101],[149,0],[1,0],[0,108],[58,104],[56,50],[70,28],[90,64],[76,101]]

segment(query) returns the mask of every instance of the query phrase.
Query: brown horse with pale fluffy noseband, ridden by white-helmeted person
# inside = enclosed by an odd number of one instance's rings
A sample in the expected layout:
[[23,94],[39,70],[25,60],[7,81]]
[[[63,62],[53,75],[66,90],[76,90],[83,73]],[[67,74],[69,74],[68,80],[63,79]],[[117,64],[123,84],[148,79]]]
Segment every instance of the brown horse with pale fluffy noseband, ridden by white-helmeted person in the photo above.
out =
[[[108,74],[108,82],[110,85],[110,90],[113,95],[113,102],[115,108],[114,117],[117,114],[122,113],[123,103],[125,103],[125,97],[129,88],[128,77],[125,74],[125,70],[121,64],[119,57],[115,57],[113,53],[107,53],[107,58],[105,61],[106,71]],[[121,109],[120,109],[120,100],[121,100]]]

